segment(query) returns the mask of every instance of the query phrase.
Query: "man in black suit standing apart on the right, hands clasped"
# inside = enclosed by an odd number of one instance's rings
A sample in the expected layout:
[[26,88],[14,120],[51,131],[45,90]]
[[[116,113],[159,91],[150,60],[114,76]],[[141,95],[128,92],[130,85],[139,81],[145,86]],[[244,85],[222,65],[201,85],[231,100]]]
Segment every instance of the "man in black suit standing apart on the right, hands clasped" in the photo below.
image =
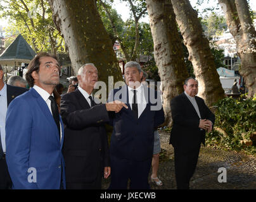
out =
[[197,93],[198,81],[188,78],[184,93],[174,97],[170,104],[173,121],[170,144],[174,146],[177,189],[189,189],[200,145],[205,144],[205,131],[210,132],[215,121],[214,114]]

